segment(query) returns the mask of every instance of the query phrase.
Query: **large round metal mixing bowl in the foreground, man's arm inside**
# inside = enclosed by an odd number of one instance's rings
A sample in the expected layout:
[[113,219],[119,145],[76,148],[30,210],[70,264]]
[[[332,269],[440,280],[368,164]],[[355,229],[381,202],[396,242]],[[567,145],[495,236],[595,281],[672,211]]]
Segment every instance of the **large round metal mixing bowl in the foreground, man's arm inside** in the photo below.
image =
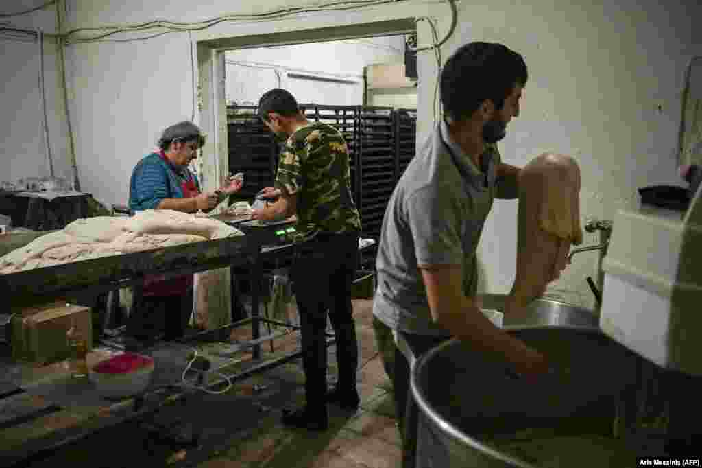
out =
[[[476,356],[456,340],[425,353],[413,365],[411,376],[420,411],[418,468],[614,468],[634,466],[637,455],[663,453],[655,441],[615,437],[615,428],[621,427],[622,402],[630,401],[637,372],[651,364],[600,330],[546,326],[508,332],[545,353],[555,372],[536,384],[525,382],[510,377],[505,363]],[[502,442],[530,443],[529,434],[543,431],[575,441],[600,437],[616,448],[610,449],[602,465],[588,464],[588,457],[598,456],[597,445],[594,450],[564,455],[567,460],[553,464],[540,458],[552,456],[548,450],[515,455]],[[601,462],[602,453],[599,456]]]

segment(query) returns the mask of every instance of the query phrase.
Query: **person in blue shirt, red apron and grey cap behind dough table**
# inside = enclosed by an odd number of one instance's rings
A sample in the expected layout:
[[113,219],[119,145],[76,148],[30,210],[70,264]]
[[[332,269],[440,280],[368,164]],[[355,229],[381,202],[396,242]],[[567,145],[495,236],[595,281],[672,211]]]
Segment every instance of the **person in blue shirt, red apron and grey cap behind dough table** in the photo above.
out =
[[[197,158],[205,137],[199,127],[184,121],[169,126],[159,138],[158,150],[145,156],[133,169],[129,183],[129,211],[172,209],[195,213],[210,212],[227,195],[241,189],[234,179],[215,193],[202,192],[197,176],[188,164]],[[127,324],[127,333],[138,340],[153,339],[164,317],[164,339],[183,337],[192,313],[192,275],[171,280],[147,277],[143,297]]]

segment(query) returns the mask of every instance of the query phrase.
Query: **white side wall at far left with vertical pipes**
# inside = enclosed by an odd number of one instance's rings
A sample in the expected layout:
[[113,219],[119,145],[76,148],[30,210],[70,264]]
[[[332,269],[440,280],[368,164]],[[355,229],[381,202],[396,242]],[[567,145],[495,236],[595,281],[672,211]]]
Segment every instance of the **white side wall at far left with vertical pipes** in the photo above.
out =
[[[23,11],[36,2],[13,1],[12,7],[3,5],[3,14]],[[14,27],[41,30],[45,34],[56,31],[54,8],[39,11],[32,16],[2,18],[0,28]],[[12,34],[12,35],[10,35]],[[49,165],[43,130],[43,111],[39,92],[39,42],[26,34],[0,32],[0,181],[16,182],[29,176],[48,176]],[[54,174],[67,176],[71,172],[63,117],[62,94],[58,92],[56,44],[44,39],[44,83],[48,136]]]

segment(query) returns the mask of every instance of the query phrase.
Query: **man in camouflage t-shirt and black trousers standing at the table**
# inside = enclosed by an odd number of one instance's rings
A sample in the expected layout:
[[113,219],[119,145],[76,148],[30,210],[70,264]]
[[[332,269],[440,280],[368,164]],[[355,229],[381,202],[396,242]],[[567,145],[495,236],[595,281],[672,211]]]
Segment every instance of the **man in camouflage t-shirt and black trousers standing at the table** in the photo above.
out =
[[[263,190],[277,201],[253,212],[255,219],[297,216],[291,279],[303,345],[305,394],[302,408],[286,411],[293,427],[328,427],[326,402],[355,410],[358,345],[352,317],[351,287],[358,264],[361,230],[351,193],[348,147],[333,126],[309,122],[295,98],[272,89],[258,103],[258,114],[279,140],[285,139],[275,188]],[[326,389],[326,311],[336,339],[338,382]]]

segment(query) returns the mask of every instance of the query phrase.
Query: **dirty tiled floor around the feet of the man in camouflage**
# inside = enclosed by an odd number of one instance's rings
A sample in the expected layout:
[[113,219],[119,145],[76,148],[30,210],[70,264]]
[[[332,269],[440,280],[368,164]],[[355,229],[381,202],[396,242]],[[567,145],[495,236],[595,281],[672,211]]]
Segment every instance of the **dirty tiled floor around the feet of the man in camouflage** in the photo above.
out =
[[[201,394],[159,412],[154,420],[171,428],[201,429],[201,445],[187,448],[159,440],[144,424],[131,422],[84,439],[27,466],[57,463],[91,467],[191,466],[197,468],[387,468],[399,467],[401,448],[390,379],[383,370],[371,326],[371,301],[354,301],[359,339],[355,413],[329,406],[325,432],[289,429],[282,408],[304,401],[298,359],[234,384],[225,395]],[[298,334],[274,342],[275,351],[295,349]],[[270,352],[266,344],[265,350]],[[336,380],[335,347],[329,349],[329,381]],[[263,389],[261,389],[263,387]]]

